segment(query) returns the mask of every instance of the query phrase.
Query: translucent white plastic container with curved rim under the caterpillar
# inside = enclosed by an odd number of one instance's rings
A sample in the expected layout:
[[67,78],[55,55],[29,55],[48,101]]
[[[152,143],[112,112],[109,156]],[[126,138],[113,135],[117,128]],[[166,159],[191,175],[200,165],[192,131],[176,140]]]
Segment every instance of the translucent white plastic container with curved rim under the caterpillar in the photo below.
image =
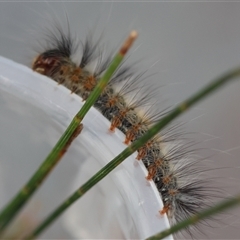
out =
[[[0,57],[0,207],[29,179],[82,105],[81,98],[65,87]],[[109,133],[109,124],[96,109],[89,111],[83,131],[22,212],[19,218],[25,220],[16,222],[11,231],[34,228],[125,149],[123,134]],[[42,236],[144,239],[168,228],[167,217],[159,214],[163,206],[159,193],[145,179],[147,171],[135,156],[87,192]]]

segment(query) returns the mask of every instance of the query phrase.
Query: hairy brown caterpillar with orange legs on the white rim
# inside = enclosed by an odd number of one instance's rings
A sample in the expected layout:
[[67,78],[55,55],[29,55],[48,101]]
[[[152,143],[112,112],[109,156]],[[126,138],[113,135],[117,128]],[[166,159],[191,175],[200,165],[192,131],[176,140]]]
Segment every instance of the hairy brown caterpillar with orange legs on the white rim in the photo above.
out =
[[[65,34],[61,28],[52,32],[49,42],[49,48],[34,59],[32,69],[86,100],[106,70],[111,55],[103,58],[98,43],[87,38],[82,45],[80,63],[74,63],[71,55],[79,46],[70,32]],[[110,121],[110,132],[118,128],[125,134],[126,144],[141,137],[164,115],[155,111],[149,89],[139,84],[143,75],[135,73],[130,66],[121,66],[94,104]],[[154,181],[162,197],[164,207],[160,214],[167,214],[169,221],[175,223],[206,207],[211,194],[207,181],[199,179],[203,170],[199,168],[199,160],[192,158],[189,145],[168,131],[141,147],[136,158],[143,161],[148,170],[146,180]]]

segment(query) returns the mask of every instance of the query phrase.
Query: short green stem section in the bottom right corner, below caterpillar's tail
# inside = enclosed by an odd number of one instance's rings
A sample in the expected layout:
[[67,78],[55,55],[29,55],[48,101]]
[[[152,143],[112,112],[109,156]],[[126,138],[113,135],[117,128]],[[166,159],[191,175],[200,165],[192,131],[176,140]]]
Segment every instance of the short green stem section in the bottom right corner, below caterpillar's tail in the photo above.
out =
[[150,238],[147,238],[147,240],[163,239],[171,234],[174,234],[184,228],[189,227],[190,225],[194,225],[197,222],[199,222],[205,218],[208,218],[219,212],[223,212],[226,209],[233,208],[239,204],[240,204],[240,195],[237,195],[231,199],[224,200],[221,203],[218,203],[216,206],[209,207],[208,209],[206,209],[198,214],[195,214],[180,223],[177,223],[176,225],[172,226],[171,228],[164,230],[161,233],[158,233]]

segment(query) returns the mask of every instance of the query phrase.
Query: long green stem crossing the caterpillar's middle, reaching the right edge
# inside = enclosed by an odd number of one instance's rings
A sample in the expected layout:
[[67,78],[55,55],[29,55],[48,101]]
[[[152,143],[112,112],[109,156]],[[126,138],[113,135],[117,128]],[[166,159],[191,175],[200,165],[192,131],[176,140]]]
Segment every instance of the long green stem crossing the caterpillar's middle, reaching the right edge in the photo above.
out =
[[217,90],[230,80],[240,77],[240,68],[227,72],[223,76],[213,80],[210,84],[198,91],[196,94],[188,98],[183,103],[179,104],[168,115],[163,117],[158,123],[156,123],[149,131],[144,134],[139,140],[133,142],[123,152],[116,156],[105,167],[98,171],[92,178],[90,178],[82,187],[74,192],[68,199],[66,199],[55,211],[53,211],[43,222],[39,225],[27,239],[32,239],[39,235],[46,227],[48,227],[60,214],[62,214],[71,204],[77,199],[82,197],[88,190],[90,190],[95,184],[102,180],[107,174],[109,174],[114,168],[122,163],[128,156],[135,152],[139,147],[147,143],[155,134],[163,129],[167,124],[173,121],[177,116],[187,111],[192,105],[199,100],[205,98],[208,94]]

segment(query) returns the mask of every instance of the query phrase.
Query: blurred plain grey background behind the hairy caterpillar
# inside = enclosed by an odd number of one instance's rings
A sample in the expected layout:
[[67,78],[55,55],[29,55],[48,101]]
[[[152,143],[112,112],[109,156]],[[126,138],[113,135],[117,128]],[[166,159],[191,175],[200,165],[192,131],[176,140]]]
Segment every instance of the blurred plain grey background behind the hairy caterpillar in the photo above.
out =
[[[0,2],[0,55],[31,66],[44,49],[44,28],[55,21],[84,41],[92,31],[105,48],[116,49],[128,32],[139,31],[129,64],[156,73],[150,83],[162,86],[156,98],[173,106],[209,80],[240,65],[240,2]],[[67,17],[66,17],[67,16]],[[44,45],[45,44],[45,45]],[[77,55],[75,56],[77,59]],[[233,83],[181,117],[206,158],[222,197],[240,192],[240,84]],[[165,104],[165,103],[164,103]],[[1,148],[1,146],[0,146]],[[204,239],[239,239],[239,209],[203,227]]]

